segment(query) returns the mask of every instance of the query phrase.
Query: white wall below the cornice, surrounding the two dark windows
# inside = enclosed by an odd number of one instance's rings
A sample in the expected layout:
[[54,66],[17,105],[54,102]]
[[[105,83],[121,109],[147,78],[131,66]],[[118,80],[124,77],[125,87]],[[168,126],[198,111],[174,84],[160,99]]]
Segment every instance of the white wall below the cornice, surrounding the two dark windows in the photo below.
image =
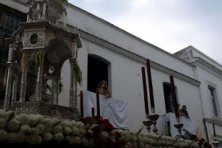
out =
[[[95,54],[103,57],[111,63],[111,91],[112,97],[128,102],[129,128],[133,131],[138,131],[145,120],[143,85],[141,76],[141,67],[145,66],[142,63],[132,61],[131,59],[111,52],[110,50],[93,44],[92,42],[82,40],[82,48],[78,52],[78,61],[83,73],[83,82],[80,90],[87,89],[87,63],[88,54]],[[69,95],[69,63],[62,70],[62,80],[65,83],[63,96],[60,96],[60,104],[68,105]],[[65,70],[66,69],[66,70]],[[151,70],[154,99],[156,113],[163,116],[166,113],[165,100],[163,93],[163,82],[170,82],[169,75],[158,71]],[[178,88],[178,96],[181,104],[187,105],[188,112],[194,120],[196,127],[202,126],[202,110],[199,98],[198,86],[175,78],[175,85]],[[148,86],[148,85],[147,85]],[[66,101],[65,101],[66,100]],[[150,102],[150,101],[149,101]],[[190,103],[192,102],[192,103]],[[195,110],[196,108],[199,110]],[[195,110],[195,111],[194,111]]]

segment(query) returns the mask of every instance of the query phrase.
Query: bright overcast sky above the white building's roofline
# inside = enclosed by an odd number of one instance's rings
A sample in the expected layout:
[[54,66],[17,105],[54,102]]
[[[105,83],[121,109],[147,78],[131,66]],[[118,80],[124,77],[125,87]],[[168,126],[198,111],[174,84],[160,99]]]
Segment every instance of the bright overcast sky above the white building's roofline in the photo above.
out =
[[194,46],[222,64],[222,0],[68,0],[170,53]]

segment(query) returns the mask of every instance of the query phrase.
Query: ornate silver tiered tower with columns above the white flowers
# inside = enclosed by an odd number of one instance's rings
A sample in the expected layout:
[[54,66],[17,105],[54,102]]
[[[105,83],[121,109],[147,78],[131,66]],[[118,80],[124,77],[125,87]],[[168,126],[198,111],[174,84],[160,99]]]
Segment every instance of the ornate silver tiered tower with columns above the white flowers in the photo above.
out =
[[[66,27],[67,0],[29,0],[27,3],[27,21],[21,23],[8,39],[4,109],[73,118],[73,112],[77,111],[78,81],[73,69],[81,42],[78,33]],[[70,61],[71,67],[70,102],[69,107],[62,107],[58,106],[58,94],[61,68],[66,60]],[[27,72],[30,67],[36,74],[35,91],[27,98]],[[52,82],[51,95],[47,94],[49,80]]]

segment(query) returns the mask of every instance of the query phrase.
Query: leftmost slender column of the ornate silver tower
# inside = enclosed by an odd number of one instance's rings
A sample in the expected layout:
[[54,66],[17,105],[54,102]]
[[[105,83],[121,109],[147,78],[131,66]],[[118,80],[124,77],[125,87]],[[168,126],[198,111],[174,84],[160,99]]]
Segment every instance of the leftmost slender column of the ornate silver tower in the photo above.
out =
[[8,70],[7,70],[7,80],[6,80],[6,90],[5,90],[5,99],[4,99],[4,110],[9,108],[9,102],[11,97],[11,87],[12,87],[12,56],[13,56],[13,45],[9,45],[8,51]]

